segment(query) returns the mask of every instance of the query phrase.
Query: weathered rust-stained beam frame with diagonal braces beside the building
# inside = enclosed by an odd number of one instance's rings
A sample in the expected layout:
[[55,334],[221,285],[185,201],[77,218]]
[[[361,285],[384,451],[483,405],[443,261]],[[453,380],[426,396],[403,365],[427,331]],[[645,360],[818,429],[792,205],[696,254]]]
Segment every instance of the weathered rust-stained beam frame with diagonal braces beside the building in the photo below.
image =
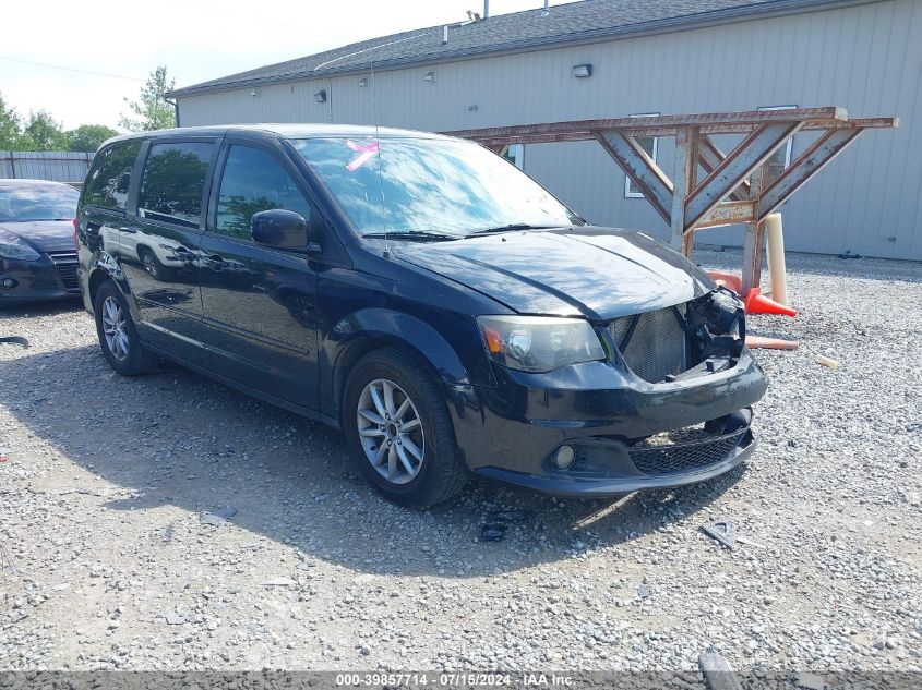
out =
[[[670,243],[688,256],[694,233],[746,225],[743,291],[761,278],[765,217],[851,144],[861,132],[890,129],[897,118],[849,119],[845,108],[791,108],[657,117],[543,122],[444,132],[499,150],[510,144],[596,141],[621,167],[647,202],[669,223]],[[786,169],[768,165],[798,132],[818,132]],[[729,153],[711,140],[739,134]],[[675,137],[670,179],[637,143],[638,137]],[[699,180],[698,172],[704,177]]]

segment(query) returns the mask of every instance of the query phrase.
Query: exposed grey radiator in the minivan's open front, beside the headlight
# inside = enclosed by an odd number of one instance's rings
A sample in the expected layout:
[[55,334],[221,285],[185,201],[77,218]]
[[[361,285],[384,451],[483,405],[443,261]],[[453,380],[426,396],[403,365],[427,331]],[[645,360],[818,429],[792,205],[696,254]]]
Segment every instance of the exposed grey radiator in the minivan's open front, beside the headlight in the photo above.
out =
[[679,304],[623,316],[609,324],[609,332],[632,372],[658,384],[670,374],[681,374],[687,368],[687,340],[679,323],[680,316],[684,320],[686,311],[685,304]]

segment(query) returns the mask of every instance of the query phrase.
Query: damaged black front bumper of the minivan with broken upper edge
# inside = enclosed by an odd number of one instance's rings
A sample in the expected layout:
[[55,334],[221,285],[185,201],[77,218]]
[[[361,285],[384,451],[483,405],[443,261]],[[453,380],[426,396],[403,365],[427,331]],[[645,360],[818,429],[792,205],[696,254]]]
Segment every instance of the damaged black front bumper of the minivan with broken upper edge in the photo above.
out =
[[[683,322],[682,313],[666,316],[657,317],[662,325],[651,339]],[[734,327],[732,336],[705,334],[702,348],[683,324],[678,337],[688,336],[688,349],[675,355],[684,362],[678,370],[635,365],[646,361],[646,350],[636,350],[632,359],[627,339],[616,339],[626,329],[612,327],[604,331],[611,336],[609,361],[543,374],[495,366],[495,388],[458,387],[450,395],[458,447],[469,469],[573,496],[679,486],[728,472],[755,447],[752,405],[768,387],[742,344],[742,315],[739,319],[738,332]],[[691,320],[687,314],[684,320]],[[635,324],[633,330],[639,334],[643,327]]]

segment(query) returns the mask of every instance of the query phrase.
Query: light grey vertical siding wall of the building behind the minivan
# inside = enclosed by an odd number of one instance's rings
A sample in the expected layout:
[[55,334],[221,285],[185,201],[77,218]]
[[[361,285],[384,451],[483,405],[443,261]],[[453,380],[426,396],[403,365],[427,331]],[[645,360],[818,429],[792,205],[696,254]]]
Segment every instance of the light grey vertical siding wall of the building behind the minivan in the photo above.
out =
[[[552,10],[553,11],[553,10]],[[852,117],[896,114],[867,131],[785,207],[790,250],[922,259],[922,3],[889,0],[680,33],[190,96],[183,125],[342,122],[453,130],[636,112],[843,106]],[[591,63],[591,78],[573,78]],[[423,75],[435,70],[433,83]],[[313,94],[326,89],[328,101]],[[475,108],[476,107],[476,108]],[[793,156],[810,135],[794,140]],[[729,147],[732,142],[725,142]],[[667,237],[644,199],[594,143],[530,145],[526,172],[590,220]],[[673,146],[660,141],[661,167]],[[698,242],[740,244],[741,228]]]

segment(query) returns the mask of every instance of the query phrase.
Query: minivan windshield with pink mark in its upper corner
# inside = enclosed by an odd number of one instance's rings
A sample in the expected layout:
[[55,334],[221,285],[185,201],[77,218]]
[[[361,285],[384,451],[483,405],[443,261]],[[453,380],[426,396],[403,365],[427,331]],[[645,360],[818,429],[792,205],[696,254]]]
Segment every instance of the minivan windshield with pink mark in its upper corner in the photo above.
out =
[[358,232],[457,235],[583,220],[500,156],[471,142],[291,142]]

